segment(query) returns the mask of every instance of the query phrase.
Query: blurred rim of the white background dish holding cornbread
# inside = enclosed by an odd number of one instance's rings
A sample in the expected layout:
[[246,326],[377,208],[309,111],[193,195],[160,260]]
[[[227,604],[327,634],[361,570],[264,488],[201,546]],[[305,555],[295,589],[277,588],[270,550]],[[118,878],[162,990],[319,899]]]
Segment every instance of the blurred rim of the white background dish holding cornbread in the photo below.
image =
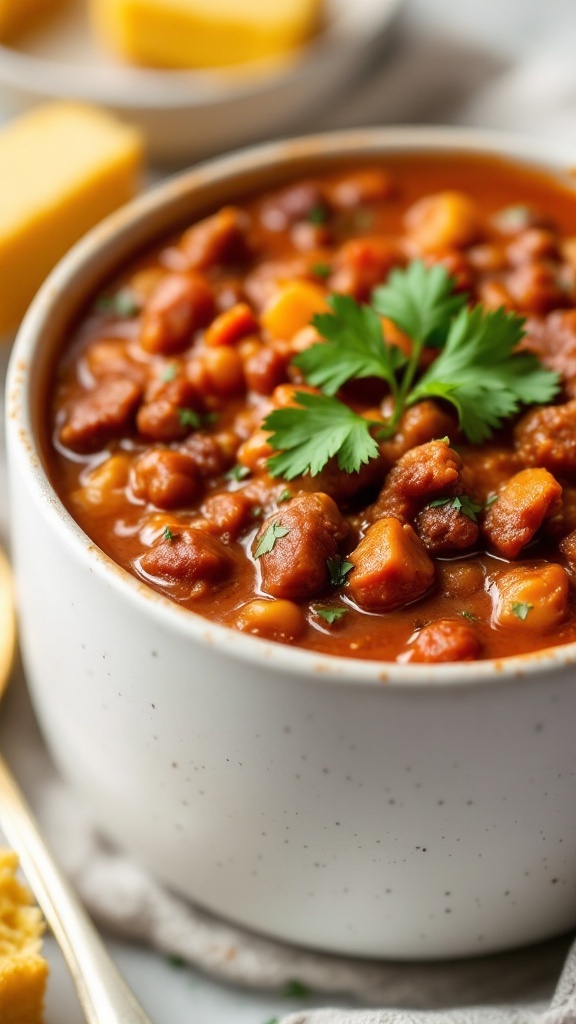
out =
[[[368,4],[372,0],[363,0]],[[358,31],[346,18],[354,5],[333,12],[326,27],[284,57],[251,61],[250,65],[215,69],[157,69],[111,63],[95,67],[86,76],[81,65],[56,57],[37,56],[26,48],[0,43],[0,81],[47,97],[74,96],[80,102],[102,102],[117,110],[168,111],[209,108],[249,99],[266,89],[288,87],[295,78],[313,75],[325,61],[333,60],[351,42],[373,45],[394,24],[405,0],[372,3],[379,16],[369,18]],[[344,16],[342,16],[342,12]],[[106,73],[106,75],[105,75]],[[99,75],[99,80],[98,80]],[[196,90],[196,91],[195,91]]]

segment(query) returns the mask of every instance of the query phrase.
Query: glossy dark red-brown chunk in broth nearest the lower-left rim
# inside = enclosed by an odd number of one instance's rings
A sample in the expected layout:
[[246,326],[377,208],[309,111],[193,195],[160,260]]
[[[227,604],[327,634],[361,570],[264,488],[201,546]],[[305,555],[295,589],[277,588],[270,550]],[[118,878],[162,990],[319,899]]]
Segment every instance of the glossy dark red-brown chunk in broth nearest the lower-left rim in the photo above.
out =
[[170,540],[161,540],[139,561],[149,577],[188,585],[212,587],[227,583],[234,560],[217,537],[182,527]]

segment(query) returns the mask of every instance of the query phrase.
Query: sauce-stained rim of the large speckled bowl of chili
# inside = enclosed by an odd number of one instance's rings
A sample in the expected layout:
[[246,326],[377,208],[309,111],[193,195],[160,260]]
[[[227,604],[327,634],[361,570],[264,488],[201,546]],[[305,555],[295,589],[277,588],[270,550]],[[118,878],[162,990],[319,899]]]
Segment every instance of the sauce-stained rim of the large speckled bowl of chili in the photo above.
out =
[[[576,188],[576,146],[551,143],[543,138],[455,127],[398,126],[328,132],[296,139],[266,142],[238,153],[209,160],[179,172],[155,185],[121,210],[97,224],[58,262],[32,302],[18,331],[10,356],[6,383],[6,434],[9,455],[18,463],[42,514],[69,548],[90,571],[120,591],[132,605],[152,615],[182,637],[210,647],[228,656],[239,657],[255,668],[275,669],[292,676],[328,683],[401,686],[419,689],[429,686],[502,685],[546,672],[561,671],[576,664],[576,642],[551,646],[529,654],[510,655],[479,662],[455,662],[437,665],[402,665],[396,662],[353,658],[319,654],[287,644],[265,640],[212,623],[197,612],[183,608],[149,587],[102,552],[68,512],[43,466],[41,444],[37,442],[32,422],[34,396],[28,368],[42,348],[43,336],[54,314],[60,310],[71,285],[86,271],[90,260],[101,253],[105,243],[128,237],[137,225],[148,224],[155,215],[170,213],[174,198],[186,198],[197,188],[214,182],[234,188],[235,181],[250,172],[285,172],[290,165],[310,159],[318,163],[339,159],[369,159],[386,154],[416,153],[502,158],[519,166],[566,177],[566,184]],[[572,175],[572,177],[571,177]],[[271,184],[273,182],[271,181]],[[231,197],[232,198],[232,197]],[[165,224],[169,233],[170,223]],[[173,224],[172,224],[173,226]],[[152,238],[152,236],[151,236]],[[125,263],[125,258],[120,265]],[[109,256],[100,276],[117,270],[114,256]],[[60,310],[61,311],[61,310]],[[53,357],[52,357],[53,365]],[[9,462],[11,459],[9,459]],[[463,678],[465,677],[465,678]],[[387,688],[384,687],[385,688]]]

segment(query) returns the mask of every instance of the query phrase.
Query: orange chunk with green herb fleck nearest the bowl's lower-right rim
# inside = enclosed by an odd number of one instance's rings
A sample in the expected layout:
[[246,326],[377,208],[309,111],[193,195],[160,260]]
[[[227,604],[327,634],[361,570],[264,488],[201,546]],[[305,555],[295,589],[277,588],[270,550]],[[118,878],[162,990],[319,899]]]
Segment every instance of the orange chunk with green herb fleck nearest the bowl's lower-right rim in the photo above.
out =
[[547,632],[568,614],[568,574],[556,562],[515,565],[490,588],[495,626]]

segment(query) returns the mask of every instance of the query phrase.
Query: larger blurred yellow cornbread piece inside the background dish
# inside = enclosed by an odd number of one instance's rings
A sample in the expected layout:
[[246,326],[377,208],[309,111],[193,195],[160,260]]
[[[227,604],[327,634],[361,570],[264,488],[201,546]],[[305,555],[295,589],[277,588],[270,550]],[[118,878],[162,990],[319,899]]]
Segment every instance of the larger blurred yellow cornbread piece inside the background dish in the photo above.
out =
[[281,55],[314,32],[321,0],[91,0],[96,33],[134,63],[212,68]]

